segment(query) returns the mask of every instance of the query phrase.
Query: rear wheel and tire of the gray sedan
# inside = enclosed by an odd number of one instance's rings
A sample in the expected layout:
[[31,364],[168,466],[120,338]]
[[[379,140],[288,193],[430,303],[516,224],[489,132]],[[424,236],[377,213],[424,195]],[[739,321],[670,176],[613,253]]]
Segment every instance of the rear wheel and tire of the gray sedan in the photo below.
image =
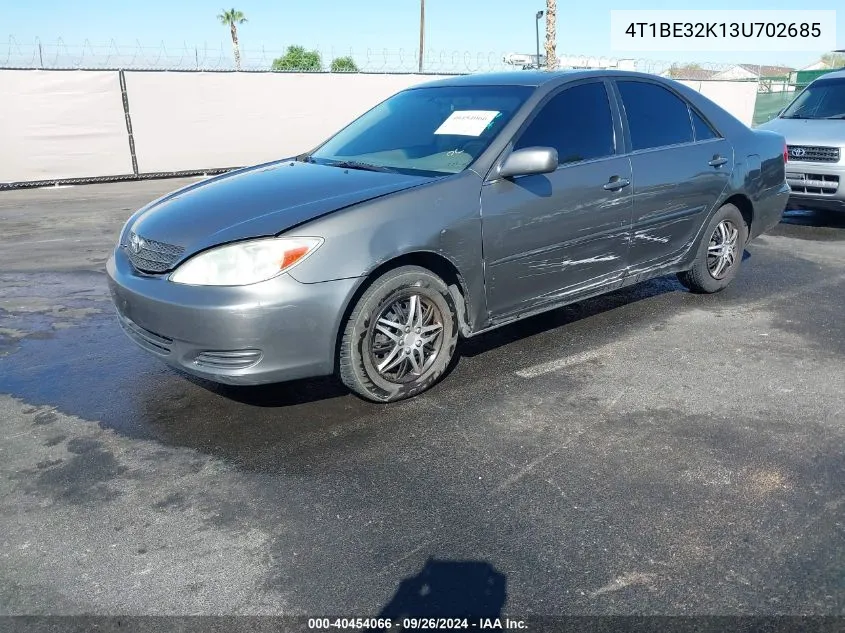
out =
[[[704,229],[692,268],[678,274],[691,292],[710,294],[728,287],[739,272],[748,225],[732,204],[721,207]],[[732,246],[719,247],[723,242]]]

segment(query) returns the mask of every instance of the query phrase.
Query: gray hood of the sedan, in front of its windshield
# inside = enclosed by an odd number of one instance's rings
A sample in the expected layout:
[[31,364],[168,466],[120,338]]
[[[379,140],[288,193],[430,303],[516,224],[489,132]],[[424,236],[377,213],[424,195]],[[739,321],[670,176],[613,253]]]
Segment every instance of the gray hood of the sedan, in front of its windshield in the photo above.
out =
[[127,228],[145,239],[181,246],[184,259],[209,246],[277,235],[332,211],[431,180],[279,161],[175,191],[140,209]]

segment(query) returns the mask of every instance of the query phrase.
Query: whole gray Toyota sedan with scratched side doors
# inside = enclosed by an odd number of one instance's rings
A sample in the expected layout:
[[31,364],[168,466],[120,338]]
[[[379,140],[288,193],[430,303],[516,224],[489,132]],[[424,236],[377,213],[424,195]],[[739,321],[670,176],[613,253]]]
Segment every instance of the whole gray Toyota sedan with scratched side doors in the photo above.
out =
[[109,285],[127,335],[183,371],[399,400],[461,338],[659,275],[722,290],[780,220],[784,150],[653,75],[449,78],[141,208]]

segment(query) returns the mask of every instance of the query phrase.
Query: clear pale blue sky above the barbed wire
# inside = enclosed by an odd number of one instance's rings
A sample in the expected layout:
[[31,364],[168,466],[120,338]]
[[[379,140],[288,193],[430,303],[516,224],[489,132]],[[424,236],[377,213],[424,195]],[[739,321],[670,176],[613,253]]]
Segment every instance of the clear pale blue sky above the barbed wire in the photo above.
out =
[[[837,5],[841,2],[815,0],[812,8],[835,10]],[[241,48],[247,55],[250,50],[283,51],[299,44],[333,56],[352,52],[361,58],[369,50],[371,57],[378,59],[385,49],[392,56],[401,50],[413,57],[419,46],[419,0],[237,0],[235,8],[249,20],[239,29]],[[534,14],[544,8],[544,0],[426,0],[426,48],[429,54],[489,54],[497,59],[506,52],[532,53]],[[794,0],[711,0],[706,5],[684,0],[643,0],[642,4],[636,0],[559,0],[558,55],[802,67],[825,52],[611,50],[610,10],[633,8],[795,10],[798,5]],[[207,0],[0,0],[0,60],[4,48],[32,46],[36,38],[45,46],[61,38],[66,45],[77,46],[86,40],[105,46],[113,40],[122,46],[140,42],[155,47],[164,42],[170,48],[230,47],[228,29],[216,20],[220,11],[219,2]],[[845,48],[845,11],[837,15],[837,34],[839,47]]]

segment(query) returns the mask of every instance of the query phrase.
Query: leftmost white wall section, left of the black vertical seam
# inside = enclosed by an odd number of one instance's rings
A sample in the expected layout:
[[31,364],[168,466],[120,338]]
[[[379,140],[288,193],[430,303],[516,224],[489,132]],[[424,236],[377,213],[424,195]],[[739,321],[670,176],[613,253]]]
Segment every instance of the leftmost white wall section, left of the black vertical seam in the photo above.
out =
[[116,72],[0,71],[0,182],[131,173]]

